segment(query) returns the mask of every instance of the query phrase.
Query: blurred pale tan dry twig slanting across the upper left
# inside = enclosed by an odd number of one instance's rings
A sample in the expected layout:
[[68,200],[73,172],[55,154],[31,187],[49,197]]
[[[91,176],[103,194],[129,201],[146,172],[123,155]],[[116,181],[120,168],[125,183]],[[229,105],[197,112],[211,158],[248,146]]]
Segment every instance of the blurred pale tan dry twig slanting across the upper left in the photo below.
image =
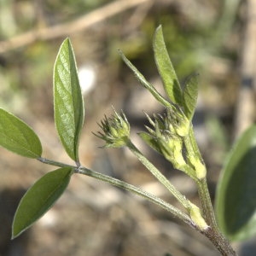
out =
[[0,41],[0,54],[12,49],[24,47],[38,40],[60,38],[80,32],[102,20],[106,20],[113,15],[124,12],[126,9],[131,9],[137,5],[149,2],[154,2],[154,0],[117,0],[113,3],[108,3],[102,8],[93,10],[89,14],[83,15],[77,20],[68,22],[67,24],[33,29],[14,38],[9,38],[6,41]]

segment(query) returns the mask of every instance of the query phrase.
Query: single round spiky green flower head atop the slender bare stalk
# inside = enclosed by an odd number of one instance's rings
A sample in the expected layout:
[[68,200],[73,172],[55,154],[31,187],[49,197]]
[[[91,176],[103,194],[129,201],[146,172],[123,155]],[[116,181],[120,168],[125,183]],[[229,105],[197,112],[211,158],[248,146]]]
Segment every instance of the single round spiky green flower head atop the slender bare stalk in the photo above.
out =
[[105,119],[101,121],[99,126],[102,128],[102,131],[98,131],[98,134],[94,133],[94,135],[106,142],[103,146],[104,148],[120,148],[128,142],[130,124],[123,112],[119,114],[114,110],[114,114],[110,118],[105,116]]

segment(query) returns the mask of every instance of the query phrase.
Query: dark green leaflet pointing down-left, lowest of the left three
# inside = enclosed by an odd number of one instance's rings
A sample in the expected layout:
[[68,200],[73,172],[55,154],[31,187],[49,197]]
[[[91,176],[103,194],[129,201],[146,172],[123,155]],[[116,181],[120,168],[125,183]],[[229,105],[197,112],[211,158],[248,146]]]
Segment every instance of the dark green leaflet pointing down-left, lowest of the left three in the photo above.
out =
[[72,174],[73,169],[70,167],[48,172],[26,191],[15,212],[12,239],[28,229],[53,206],[67,188]]

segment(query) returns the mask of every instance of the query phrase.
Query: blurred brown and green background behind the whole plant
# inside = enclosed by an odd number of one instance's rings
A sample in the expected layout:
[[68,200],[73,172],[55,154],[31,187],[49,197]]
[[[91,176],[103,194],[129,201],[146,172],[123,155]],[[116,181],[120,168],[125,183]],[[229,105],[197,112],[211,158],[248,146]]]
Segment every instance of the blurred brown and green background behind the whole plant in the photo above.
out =
[[[253,3],[254,2],[254,3]],[[84,166],[177,201],[124,149],[102,149],[91,131],[112,106],[127,115],[132,140],[190,200],[195,184],[137,137],[148,114],[163,109],[121,61],[121,49],[161,89],[152,39],[160,24],[181,84],[199,73],[194,125],[208,168],[214,202],[216,183],[233,141],[254,121],[256,2],[251,0],[1,0],[0,107],[38,133],[44,157],[69,163],[53,119],[52,72],[58,49],[70,37],[84,93],[80,143]],[[61,199],[23,235],[10,241],[20,198],[54,170],[0,148],[0,255],[218,255],[206,238],[146,201],[90,177],[74,175]],[[253,241],[235,244],[255,255]],[[255,249],[255,247],[254,247]],[[255,252],[255,251],[254,251]]]

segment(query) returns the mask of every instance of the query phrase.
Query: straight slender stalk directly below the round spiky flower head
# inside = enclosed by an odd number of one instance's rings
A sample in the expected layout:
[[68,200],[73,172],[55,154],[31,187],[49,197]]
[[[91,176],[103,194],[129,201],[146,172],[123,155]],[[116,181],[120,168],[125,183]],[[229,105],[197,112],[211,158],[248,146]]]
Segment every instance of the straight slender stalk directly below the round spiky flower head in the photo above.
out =
[[192,203],[186,199],[186,197],[182,195],[151,162],[149,162],[149,160],[137,149],[137,147],[131,143],[130,139],[126,143],[126,146],[131,150],[133,154],[137,156],[137,159],[142,162],[143,166],[145,166],[148,171],[151,172],[154,177],[156,177],[160,183],[162,183],[166,189],[168,189],[172,195],[175,196],[177,201],[179,201],[183,207],[185,207],[187,210],[191,207]]

